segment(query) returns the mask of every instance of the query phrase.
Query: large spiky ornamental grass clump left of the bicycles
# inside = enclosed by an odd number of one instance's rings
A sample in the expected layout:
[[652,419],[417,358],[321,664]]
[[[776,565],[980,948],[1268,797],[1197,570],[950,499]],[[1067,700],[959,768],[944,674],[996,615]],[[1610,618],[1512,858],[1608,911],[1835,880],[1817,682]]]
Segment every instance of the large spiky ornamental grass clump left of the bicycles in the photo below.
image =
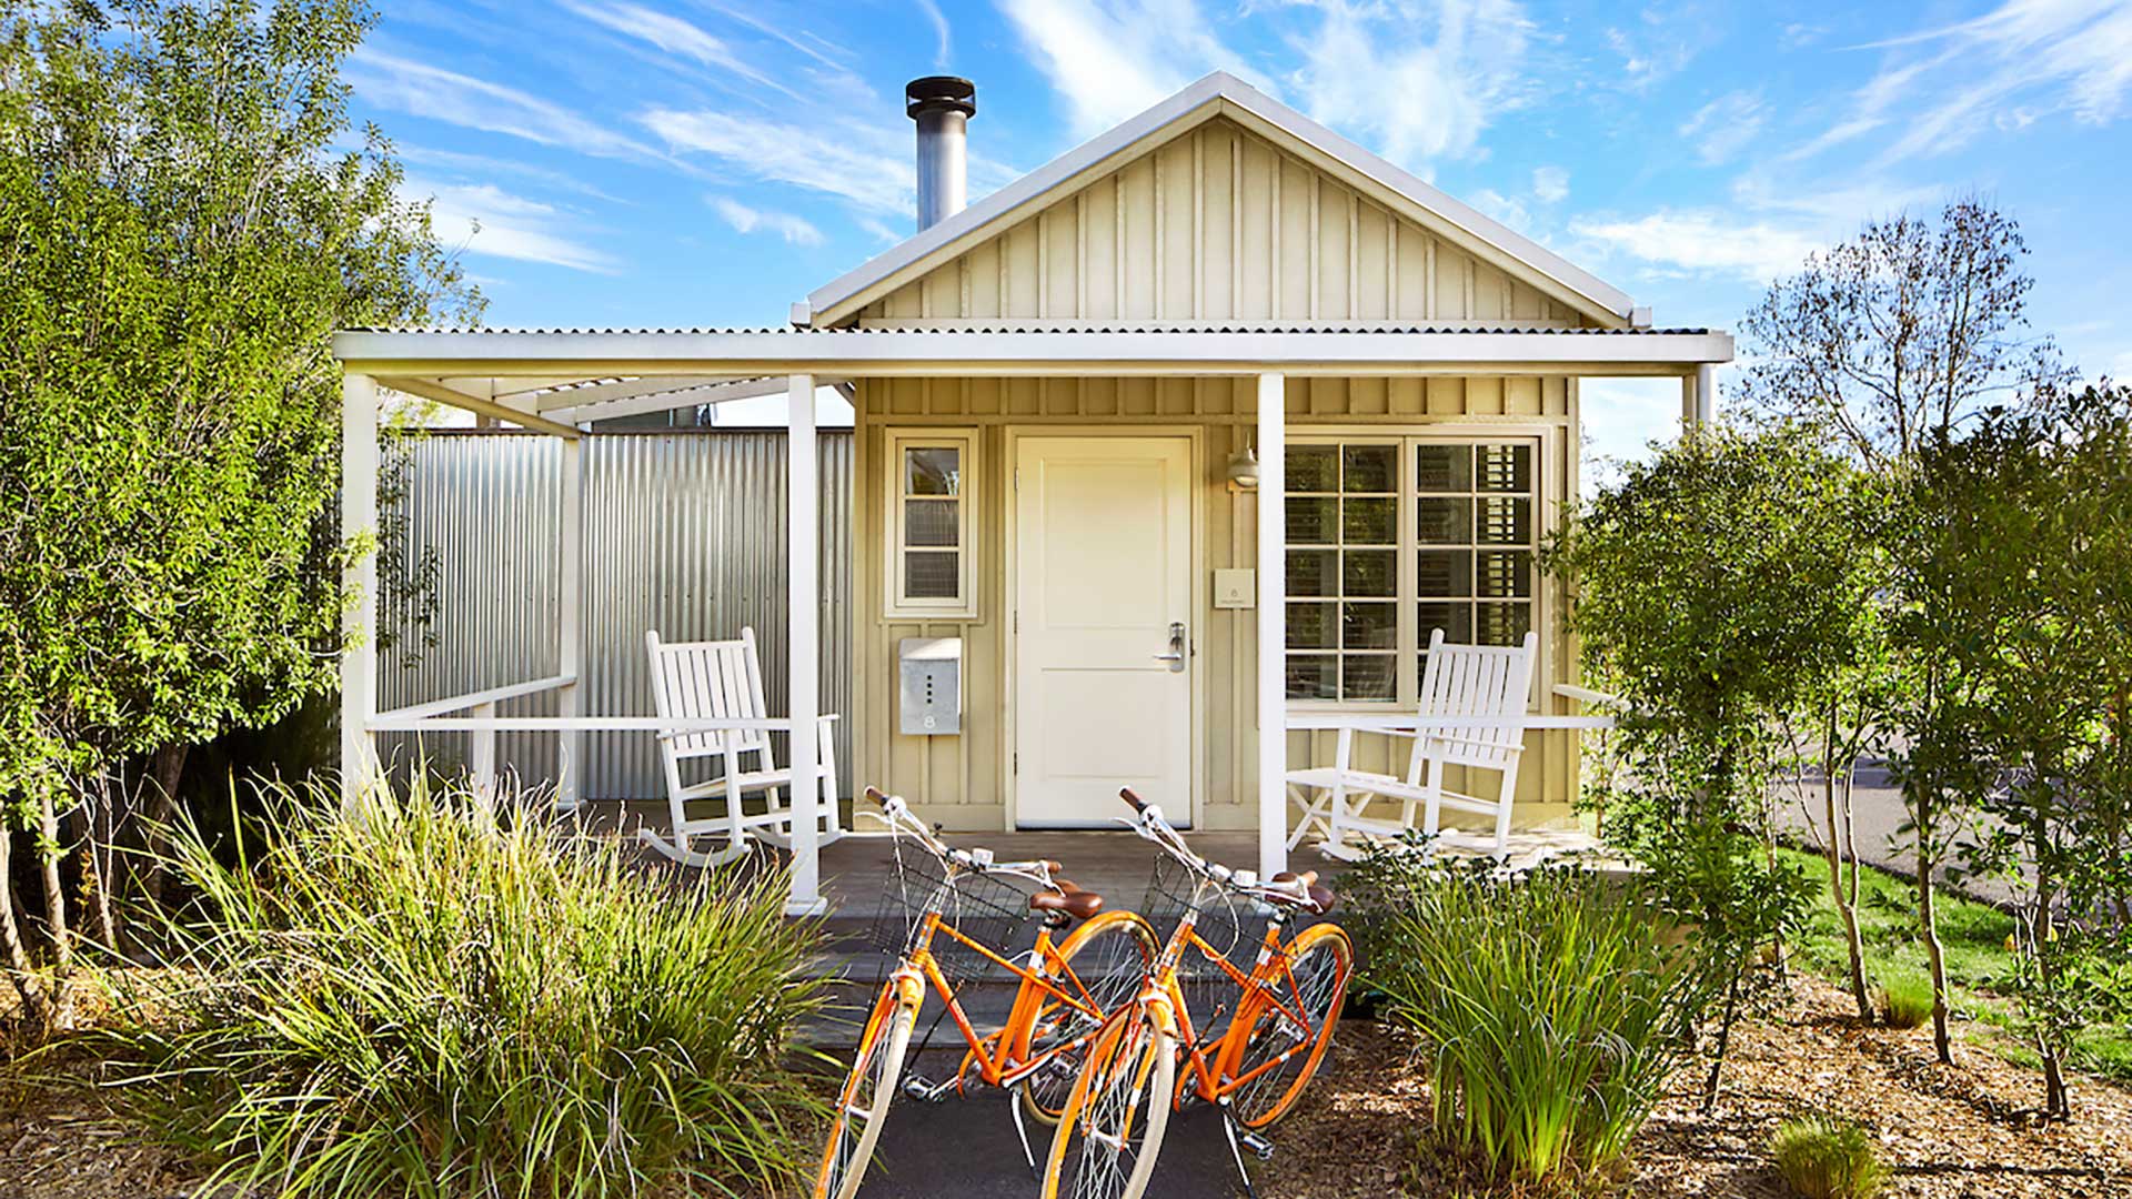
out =
[[[281,794],[158,932],[122,1003],[119,1103],[205,1190],[544,1197],[787,1188],[814,1118],[789,1060],[814,932],[776,870],[646,873],[614,838],[416,785],[341,819]],[[226,853],[226,851],[224,851]],[[113,1052],[115,1050],[115,1052]],[[220,1193],[220,1190],[217,1190]]]

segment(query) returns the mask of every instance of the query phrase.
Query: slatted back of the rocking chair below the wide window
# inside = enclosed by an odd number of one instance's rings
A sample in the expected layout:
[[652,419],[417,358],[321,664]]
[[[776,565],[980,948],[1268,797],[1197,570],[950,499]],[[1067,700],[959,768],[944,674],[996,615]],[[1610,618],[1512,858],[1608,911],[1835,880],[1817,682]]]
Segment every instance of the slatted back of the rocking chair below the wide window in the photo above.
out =
[[[1407,781],[1420,783],[1431,753],[1460,766],[1503,768],[1524,747],[1524,706],[1533,687],[1539,634],[1520,644],[1452,644],[1428,634],[1422,668],[1420,736]],[[1428,717],[1480,717],[1499,723],[1428,725]]]

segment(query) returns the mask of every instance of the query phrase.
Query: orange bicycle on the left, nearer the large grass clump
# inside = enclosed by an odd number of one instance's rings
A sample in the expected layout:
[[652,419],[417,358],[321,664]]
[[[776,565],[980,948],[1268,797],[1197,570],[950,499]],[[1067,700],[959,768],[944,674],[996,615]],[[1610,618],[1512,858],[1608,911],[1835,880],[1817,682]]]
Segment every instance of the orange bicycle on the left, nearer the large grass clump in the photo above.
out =
[[[1134,913],[1102,911],[1102,896],[1060,877],[1057,862],[996,862],[985,849],[953,849],[902,798],[876,787],[866,796],[881,804],[895,845],[895,877],[876,943],[898,962],[868,1011],[851,1075],[829,1114],[814,1199],[851,1199],[859,1190],[898,1092],[936,1103],[951,1090],[964,1092],[972,1077],[1017,1088],[1015,1131],[1034,1171],[1023,1109],[1047,1124],[1057,1122],[1083,1052],[1104,1018],[1141,988],[1156,956],[1156,934]],[[1006,879],[1034,883],[1036,892]],[[1032,920],[1036,934],[1023,945]],[[1053,943],[1055,932],[1075,924],[1079,928]],[[1019,986],[1006,1022],[979,1035],[959,992],[983,977],[1013,977]],[[968,1043],[962,1067],[942,1082],[904,1077],[927,986]]]

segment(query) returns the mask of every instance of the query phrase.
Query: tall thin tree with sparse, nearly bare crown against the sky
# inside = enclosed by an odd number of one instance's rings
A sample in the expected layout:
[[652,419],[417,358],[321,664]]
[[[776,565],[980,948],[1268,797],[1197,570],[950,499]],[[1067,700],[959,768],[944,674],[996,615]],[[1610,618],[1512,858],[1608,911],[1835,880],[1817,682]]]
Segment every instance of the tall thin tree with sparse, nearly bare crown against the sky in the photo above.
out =
[[[2019,224],[1978,198],[1940,211],[1938,224],[1908,213],[1868,224],[1855,239],[1774,284],[1748,311],[1750,367],[1740,397],[1761,420],[1806,422],[1866,471],[1895,484],[1895,503],[1921,501],[1917,463],[1957,425],[1993,403],[2051,388],[2070,371],[2047,337],[2030,337]],[[1893,514],[1885,548],[1929,553],[1923,516]],[[1910,561],[1912,591],[1929,589],[1929,565]],[[1895,747],[1906,828],[1919,888],[1919,937],[1932,969],[1934,1041],[1953,1060],[1947,1033],[1947,962],[1934,915],[1936,873],[1947,862],[1972,794],[1959,772],[1968,704],[1949,664],[1934,657],[1929,627],[1895,621],[1897,678],[1880,717]],[[1912,636],[1915,634],[1915,636]],[[1859,728],[1874,719],[1859,710]],[[1836,730],[1842,738],[1842,730]],[[1836,830],[1831,828],[1831,841]],[[1840,858],[1840,853],[1838,853]],[[1831,862],[1831,870],[1840,862]],[[1853,858],[1853,870],[1857,862]]]

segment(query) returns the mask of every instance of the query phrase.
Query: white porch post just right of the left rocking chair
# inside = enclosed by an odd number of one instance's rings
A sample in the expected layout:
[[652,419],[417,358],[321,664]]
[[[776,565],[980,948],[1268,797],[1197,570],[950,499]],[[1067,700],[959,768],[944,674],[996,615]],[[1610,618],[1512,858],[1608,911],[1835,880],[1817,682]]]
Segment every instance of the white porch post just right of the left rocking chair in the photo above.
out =
[[791,375],[785,444],[785,659],[793,764],[793,894],[787,915],[819,915],[821,898],[821,578],[814,461],[814,375]]

